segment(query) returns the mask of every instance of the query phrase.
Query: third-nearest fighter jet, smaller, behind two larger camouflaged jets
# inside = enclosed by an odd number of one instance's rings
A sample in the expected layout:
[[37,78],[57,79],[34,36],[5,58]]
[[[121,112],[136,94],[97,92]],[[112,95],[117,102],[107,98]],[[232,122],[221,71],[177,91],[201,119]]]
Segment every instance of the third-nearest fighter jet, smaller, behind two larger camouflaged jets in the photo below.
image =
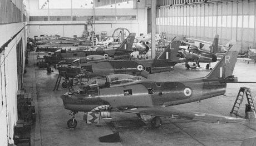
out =
[[52,56],[44,56],[48,64],[56,64],[63,60],[74,61],[77,58],[85,58],[90,55],[102,55],[105,57],[112,57],[115,59],[130,57],[132,52],[132,43],[134,42],[135,33],[130,33],[129,36],[122,42],[119,48],[105,48],[104,46],[96,49],[77,49],[70,47],[70,49],[60,49]]

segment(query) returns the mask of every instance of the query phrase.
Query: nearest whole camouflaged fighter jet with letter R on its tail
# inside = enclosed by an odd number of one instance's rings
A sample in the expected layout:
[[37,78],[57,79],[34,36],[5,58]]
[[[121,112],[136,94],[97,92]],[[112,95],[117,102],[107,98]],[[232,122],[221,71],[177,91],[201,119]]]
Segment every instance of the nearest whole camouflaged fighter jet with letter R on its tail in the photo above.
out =
[[203,122],[232,123],[242,118],[198,113],[182,112],[166,108],[223,95],[226,92],[225,79],[233,74],[238,56],[238,47],[232,47],[220,59],[205,77],[180,82],[157,82],[150,80],[124,83],[110,87],[88,85],[86,90],[62,95],[65,109],[71,110],[69,128],[75,128],[77,112],[85,112],[87,123],[97,123],[100,118],[110,118],[111,111],[137,114],[142,121],[152,128],[161,125],[160,117],[199,120]]

